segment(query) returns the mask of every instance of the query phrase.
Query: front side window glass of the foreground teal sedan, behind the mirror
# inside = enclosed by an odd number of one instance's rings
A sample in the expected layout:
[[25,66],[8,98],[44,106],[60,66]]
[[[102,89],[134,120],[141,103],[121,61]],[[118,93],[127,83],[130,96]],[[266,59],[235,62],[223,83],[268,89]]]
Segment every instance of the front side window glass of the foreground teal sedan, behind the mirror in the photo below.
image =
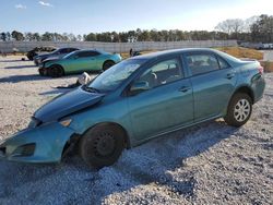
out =
[[136,82],[145,82],[149,88],[182,79],[182,72],[178,59],[164,60],[146,70]]

